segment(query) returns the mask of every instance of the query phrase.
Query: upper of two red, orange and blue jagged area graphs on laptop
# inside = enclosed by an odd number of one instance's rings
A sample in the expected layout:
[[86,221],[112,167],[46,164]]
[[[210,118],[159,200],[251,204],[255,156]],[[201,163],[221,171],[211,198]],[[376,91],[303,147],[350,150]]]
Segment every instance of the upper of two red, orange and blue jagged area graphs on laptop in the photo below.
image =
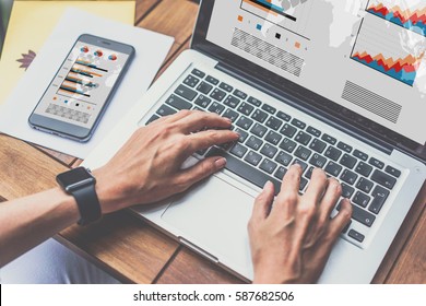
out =
[[426,1],[370,1],[367,12],[426,36]]

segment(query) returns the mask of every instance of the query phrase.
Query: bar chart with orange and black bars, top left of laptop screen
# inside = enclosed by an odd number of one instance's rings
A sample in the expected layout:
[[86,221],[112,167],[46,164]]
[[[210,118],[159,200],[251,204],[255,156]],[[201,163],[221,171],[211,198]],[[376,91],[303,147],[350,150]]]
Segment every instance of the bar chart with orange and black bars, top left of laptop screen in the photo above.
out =
[[305,39],[315,0],[241,0],[240,8]]

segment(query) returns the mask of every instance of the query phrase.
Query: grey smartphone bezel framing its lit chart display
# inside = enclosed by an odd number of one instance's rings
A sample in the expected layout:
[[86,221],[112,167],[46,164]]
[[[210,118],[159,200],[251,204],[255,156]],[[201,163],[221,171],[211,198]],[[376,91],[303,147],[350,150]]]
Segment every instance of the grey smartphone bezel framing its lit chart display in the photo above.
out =
[[[54,118],[49,118],[49,117],[46,117],[46,116],[43,116],[39,114],[35,114],[35,110],[37,109],[39,104],[43,102],[43,98],[45,97],[48,89],[51,86],[55,78],[59,73],[59,71],[62,68],[63,63],[66,62],[67,58],[70,56],[71,51],[73,50],[75,45],[79,43],[87,43],[91,45],[108,48],[108,49],[117,51],[117,52],[122,52],[122,54],[126,54],[129,56],[127,61],[123,64],[122,70],[120,71],[120,74],[117,78],[116,83],[114,84],[113,89],[110,90],[105,103],[103,104],[102,109],[97,114],[94,123],[90,128],[80,127],[76,125],[61,121],[60,119],[54,119]],[[134,48],[128,44],[119,43],[116,40],[107,39],[104,37],[92,35],[92,34],[80,35],[79,38],[75,39],[74,44],[72,45],[69,52],[67,54],[64,60],[62,61],[62,63],[58,68],[58,71],[55,73],[55,76],[51,79],[49,85],[46,87],[46,90],[43,93],[37,105],[34,107],[31,116],[28,117],[28,125],[36,130],[40,130],[40,131],[56,134],[59,137],[63,137],[67,139],[76,140],[80,142],[88,141],[92,138],[97,125],[99,123],[100,118],[103,117],[105,110],[107,109],[118,85],[120,84],[122,76],[125,75],[126,71],[128,70],[128,67],[129,67],[132,58],[134,57],[134,54],[135,54]]]

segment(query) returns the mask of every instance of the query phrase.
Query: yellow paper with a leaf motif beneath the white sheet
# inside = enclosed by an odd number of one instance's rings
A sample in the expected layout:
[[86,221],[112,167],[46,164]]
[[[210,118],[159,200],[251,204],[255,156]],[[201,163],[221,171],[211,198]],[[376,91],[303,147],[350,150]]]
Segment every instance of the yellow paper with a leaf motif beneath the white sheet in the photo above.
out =
[[28,64],[31,64],[32,59],[37,55],[62,13],[69,7],[122,23],[134,24],[134,0],[15,0],[0,60],[0,105],[5,102]]

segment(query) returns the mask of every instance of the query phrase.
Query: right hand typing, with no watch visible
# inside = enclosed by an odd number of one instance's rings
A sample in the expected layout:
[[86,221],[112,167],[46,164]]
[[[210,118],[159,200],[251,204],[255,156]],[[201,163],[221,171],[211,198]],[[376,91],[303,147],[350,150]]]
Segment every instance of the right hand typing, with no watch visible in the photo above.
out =
[[256,199],[248,224],[253,283],[315,283],[351,220],[347,199],[330,219],[342,193],[338,180],[327,179],[323,170],[315,169],[307,191],[299,196],[300,175],[300,166],[292,166],[274,202],[271,183]]

